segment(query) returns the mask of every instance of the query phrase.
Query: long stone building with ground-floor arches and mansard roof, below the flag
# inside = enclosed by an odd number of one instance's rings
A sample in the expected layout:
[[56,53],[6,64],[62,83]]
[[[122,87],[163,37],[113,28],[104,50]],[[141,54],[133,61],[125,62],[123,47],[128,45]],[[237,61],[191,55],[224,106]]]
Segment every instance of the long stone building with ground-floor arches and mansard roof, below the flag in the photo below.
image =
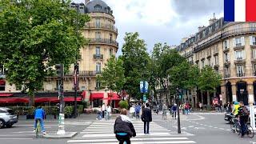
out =
[[213,98],[222,103],[256,101],[256,23],[224,22],[210,19],[209,26],[198,27],[198,33],[176,48],[191,64],[200,69],[209,65],[222,75],[222,84],[209,98],[191,90],[186,99],[210,105]]

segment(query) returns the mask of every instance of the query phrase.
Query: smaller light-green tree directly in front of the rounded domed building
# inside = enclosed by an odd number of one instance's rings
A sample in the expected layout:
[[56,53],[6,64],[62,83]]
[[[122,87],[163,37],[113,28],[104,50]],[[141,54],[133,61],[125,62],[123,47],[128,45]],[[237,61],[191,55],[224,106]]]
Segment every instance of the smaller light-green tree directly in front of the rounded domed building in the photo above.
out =
[[126,82],[122,58],[112,56],[108,59],[102,74],[98,75],[98,81],[102,83],[102,88],[114,90],[120,94]]

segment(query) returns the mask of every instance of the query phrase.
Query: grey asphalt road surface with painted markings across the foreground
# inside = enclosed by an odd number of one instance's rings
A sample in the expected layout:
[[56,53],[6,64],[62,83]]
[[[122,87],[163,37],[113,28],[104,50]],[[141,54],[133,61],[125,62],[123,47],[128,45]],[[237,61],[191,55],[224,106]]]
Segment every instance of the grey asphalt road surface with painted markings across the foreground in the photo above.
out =
[[[132,138],[132,143],[198,143],[198,144],[256,144],[254,138],[240,138],[230,131],[230,125],[223,119],[223,114],[194,113],[181,115],[182,134],[177,134],[177,120],[167,116],[153,114],[150,135],[142,134],[142,122],[134,120],[138,137]],[[2,144],[63,144],[63,143],[117,143],[113,134],[114,118],[109,122],[100,122],[94,115],[82,118],[66,119],[66,131],[77,131],[78,135],[71,139],[34,138],[33,121],[21,120],[12,128],[0,129]],[[99,128],[101,127],[102,128]],[[99,128],[99,129],[98,129]],[[56,120],[46,121],[46,131],[57,131]],[[90,134],[92,137],[90,137]],[[89,141],[90,140],[90,141]],[[109,142],[106,142],[106,141]]]

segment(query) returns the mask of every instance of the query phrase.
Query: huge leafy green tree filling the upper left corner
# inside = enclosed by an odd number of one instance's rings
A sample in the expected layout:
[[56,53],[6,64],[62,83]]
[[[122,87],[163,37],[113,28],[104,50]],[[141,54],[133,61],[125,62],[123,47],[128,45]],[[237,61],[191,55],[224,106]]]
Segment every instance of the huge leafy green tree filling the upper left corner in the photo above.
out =
[[[0,0],[0,55],[6,79],[24,86],[34,105],[34,92],[40,90],[56,63],[66,70],[79,57],[78,47],[86,44],[81,31],[90,18],[70,9],[70,1]],[[77,45],[78,44],[78,45]]]

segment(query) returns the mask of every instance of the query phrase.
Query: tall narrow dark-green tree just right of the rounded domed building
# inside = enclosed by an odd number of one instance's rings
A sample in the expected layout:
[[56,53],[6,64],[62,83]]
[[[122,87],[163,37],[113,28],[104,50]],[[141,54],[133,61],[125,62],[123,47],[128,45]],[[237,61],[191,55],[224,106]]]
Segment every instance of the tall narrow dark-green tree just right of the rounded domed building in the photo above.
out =
[[148,79],[147,66],[149,54],[146,52],[146,43],[139,38],[139,34],[126,33],[125,43],[122,46],[122,60],[125,69],[125,90],[130,97],[141,98],[139,82]]

